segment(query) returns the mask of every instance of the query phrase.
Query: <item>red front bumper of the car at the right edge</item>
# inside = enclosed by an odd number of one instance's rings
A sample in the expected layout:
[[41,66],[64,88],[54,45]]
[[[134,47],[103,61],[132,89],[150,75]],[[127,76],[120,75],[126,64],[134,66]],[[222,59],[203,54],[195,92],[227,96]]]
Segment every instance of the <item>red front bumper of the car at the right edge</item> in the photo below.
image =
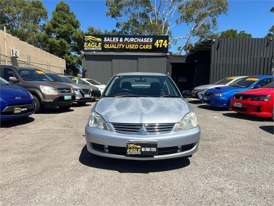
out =
[[[242,106],[234,106],[234,103],[241,103]],[[257,117],[272,117],[273,108],[271,108],[271,105],[273,106],[273,103],[264,101],[232,100],[229,110]]]

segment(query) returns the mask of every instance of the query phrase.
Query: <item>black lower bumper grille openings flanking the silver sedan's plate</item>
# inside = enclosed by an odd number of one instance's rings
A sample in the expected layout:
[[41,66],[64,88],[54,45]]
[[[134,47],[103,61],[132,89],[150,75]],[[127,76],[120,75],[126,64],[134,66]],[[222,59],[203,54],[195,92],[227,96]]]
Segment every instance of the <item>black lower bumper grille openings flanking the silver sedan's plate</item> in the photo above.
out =
[[[188,150],[191,150],[195,147],[196,144],[187,144],[184,146],[174,146],[174,147],[166,147],[166,148],[158,148],[158,155],[171,155],[178,152],[186,152]],[[116,147],[116,146],[108,146],[105,147],[102,144],[95,144],[91,143],[91,146],[94,150],[97,150],[99,152],[105,152],[112,155],[126,155],[126,148],[125,147]],[[138,157],[147,157],[147,156],[138,156]]]

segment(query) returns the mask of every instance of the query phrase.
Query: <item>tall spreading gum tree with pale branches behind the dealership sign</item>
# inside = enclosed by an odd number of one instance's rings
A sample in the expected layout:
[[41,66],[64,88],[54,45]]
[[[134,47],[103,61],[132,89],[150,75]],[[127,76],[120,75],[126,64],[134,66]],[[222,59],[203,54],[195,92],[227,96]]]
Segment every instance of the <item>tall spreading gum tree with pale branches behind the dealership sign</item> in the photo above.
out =
[[[179,54],[192,41],[206,38],[216,29],[216,17],[227,12],[227,0],[107,0],[106,13],[116,19],[122,34],[169,35],[170,44],[181,44]],[[188,31],[172,36],[185,24]]]

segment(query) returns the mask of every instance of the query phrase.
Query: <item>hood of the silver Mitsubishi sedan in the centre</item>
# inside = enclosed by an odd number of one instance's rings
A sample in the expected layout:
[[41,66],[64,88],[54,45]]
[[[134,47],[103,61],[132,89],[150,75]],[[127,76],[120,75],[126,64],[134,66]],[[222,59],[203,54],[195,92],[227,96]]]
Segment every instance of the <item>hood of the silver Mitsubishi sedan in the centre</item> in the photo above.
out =
[[190,112],[181,98],[102,98],[93,110],[106,122],[135,124],[180,122]]

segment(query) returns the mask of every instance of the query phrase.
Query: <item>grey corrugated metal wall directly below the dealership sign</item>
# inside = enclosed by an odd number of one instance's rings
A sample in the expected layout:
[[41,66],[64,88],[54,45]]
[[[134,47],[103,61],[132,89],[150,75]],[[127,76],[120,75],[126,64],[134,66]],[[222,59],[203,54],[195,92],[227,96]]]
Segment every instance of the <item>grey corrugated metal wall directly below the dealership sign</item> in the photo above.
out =
[[84,55],[82,67],[87,70],[86,78],[107,84],[116,73],[135,71],[166,73],[166,56]]

